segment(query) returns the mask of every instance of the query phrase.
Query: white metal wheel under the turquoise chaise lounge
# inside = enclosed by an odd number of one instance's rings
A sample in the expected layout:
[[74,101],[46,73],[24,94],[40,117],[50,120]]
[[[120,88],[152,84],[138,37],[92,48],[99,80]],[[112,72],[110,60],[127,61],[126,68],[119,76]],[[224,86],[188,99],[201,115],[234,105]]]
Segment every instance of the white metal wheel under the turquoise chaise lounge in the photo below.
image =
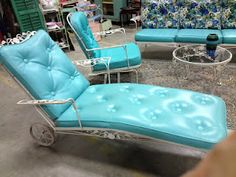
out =
[[54,130],[45,124],[34,123],[30,127],[30,135],[41,146],[51,146],[55,142]]

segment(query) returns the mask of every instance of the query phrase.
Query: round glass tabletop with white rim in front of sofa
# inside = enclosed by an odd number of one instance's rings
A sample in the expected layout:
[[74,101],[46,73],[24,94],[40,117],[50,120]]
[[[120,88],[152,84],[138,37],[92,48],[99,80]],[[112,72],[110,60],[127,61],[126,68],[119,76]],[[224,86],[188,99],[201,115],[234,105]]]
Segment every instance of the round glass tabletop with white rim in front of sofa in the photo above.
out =
[[173,57],[180,62],[200,66],[226,64],[232,59],[232,53],[220,46],[217,46],[214,51],[214,57],[209,56],[208,53],[206,45],[185,45],[176,48],[173,51]]

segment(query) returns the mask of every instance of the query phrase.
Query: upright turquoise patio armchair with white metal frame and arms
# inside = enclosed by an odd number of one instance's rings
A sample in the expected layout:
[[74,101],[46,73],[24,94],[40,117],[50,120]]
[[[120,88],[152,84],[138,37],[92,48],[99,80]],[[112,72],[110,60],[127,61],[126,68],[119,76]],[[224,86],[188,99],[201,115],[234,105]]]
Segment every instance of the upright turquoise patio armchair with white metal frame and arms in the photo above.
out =
[[[109,71],[117,73],[117,80],[120,82],[121,72],[135,72],[136,82],[138,82],[137,68],[141,65],[141,54],[138,46],[134,43],[125,43],[108,47],[100,47],[94,38],[89,27],[88,19],[83,12],[73,12],[68,14],[67,21],[74,31],[78,43],[87,59],[110,57]],[[109,35],[114,33],[124,33],[124,28],[103,31],[97,35]],[[93,74],[106,74],[107,68],[104,64],[92,67]]]

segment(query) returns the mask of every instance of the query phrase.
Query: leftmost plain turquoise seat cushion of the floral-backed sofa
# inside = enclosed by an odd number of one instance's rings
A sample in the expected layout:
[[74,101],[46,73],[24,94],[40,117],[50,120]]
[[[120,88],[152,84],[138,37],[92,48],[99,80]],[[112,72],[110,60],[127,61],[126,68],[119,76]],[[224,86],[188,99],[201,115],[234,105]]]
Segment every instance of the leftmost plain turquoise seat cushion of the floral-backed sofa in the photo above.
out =
[[135,34],[137,42],[175,42],[178,29],[142,29]]

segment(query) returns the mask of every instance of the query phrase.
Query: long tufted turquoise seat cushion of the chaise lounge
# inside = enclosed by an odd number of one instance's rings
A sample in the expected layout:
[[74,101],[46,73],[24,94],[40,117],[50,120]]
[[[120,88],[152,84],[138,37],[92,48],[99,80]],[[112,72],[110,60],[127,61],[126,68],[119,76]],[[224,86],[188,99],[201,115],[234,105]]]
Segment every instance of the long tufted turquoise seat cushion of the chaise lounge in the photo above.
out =
[[[226,108],[216,96],[142,84],[90,86],[76,100],[84,127],[125,130],[210,148],[227,135]],[[78,126],[73,108],[57,126]]]

